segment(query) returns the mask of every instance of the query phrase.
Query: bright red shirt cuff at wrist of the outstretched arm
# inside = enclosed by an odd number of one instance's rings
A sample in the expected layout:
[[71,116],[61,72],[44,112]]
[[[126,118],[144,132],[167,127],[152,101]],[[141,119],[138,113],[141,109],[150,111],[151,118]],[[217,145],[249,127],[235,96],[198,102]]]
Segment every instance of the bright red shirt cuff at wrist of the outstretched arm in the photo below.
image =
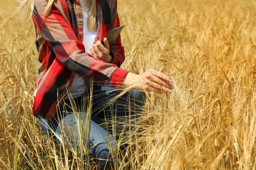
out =
[[116,68],[116,70],[113,72],[111,76],[110,86],[112,88],[119,89],[121,87],[122,80],[124,79],[127,73],[129,73],[128,70],[124,70],[122,68]]

